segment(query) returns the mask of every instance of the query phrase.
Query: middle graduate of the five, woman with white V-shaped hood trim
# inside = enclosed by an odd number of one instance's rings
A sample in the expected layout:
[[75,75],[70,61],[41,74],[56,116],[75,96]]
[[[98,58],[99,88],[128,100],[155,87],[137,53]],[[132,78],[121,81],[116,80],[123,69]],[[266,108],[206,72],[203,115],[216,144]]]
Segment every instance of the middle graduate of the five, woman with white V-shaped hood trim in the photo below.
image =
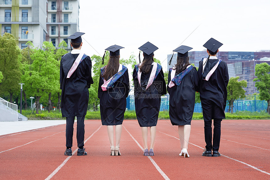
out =
[[[135,110],[138,123],[142,127],[144,155],[154,155],[156,125],[159,117],[160,96],[166,94],[164,73],[160,64],[154,62],[154,51],[158,47],[150,42],[139,47],[143,51],[143,62],[135,65],[133,71]],[[150,127],[150,149],[147,146]]]

